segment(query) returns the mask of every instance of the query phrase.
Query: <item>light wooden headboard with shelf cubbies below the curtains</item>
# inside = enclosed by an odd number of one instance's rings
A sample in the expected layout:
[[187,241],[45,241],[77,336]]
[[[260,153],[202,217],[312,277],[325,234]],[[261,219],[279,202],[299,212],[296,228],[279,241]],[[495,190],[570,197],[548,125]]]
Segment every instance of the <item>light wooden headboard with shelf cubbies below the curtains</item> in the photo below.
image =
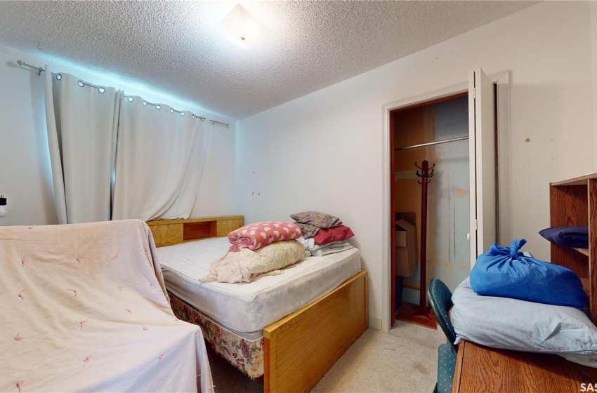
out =
[[221,215],[219,217],[188,218],[185,220],[147,221],[155,246],[172,246],[210,237],[223,237],[244,225],[242,215]]

